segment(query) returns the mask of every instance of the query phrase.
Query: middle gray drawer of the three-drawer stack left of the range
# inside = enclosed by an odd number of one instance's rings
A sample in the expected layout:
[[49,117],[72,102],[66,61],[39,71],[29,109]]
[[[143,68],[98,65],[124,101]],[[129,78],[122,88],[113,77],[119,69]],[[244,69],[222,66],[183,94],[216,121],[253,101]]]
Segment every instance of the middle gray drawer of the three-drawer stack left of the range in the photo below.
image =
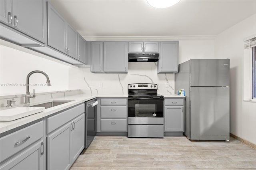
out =
[[101,117],[102,118],[126,118],[127,107],[126,106],[102,106]]

